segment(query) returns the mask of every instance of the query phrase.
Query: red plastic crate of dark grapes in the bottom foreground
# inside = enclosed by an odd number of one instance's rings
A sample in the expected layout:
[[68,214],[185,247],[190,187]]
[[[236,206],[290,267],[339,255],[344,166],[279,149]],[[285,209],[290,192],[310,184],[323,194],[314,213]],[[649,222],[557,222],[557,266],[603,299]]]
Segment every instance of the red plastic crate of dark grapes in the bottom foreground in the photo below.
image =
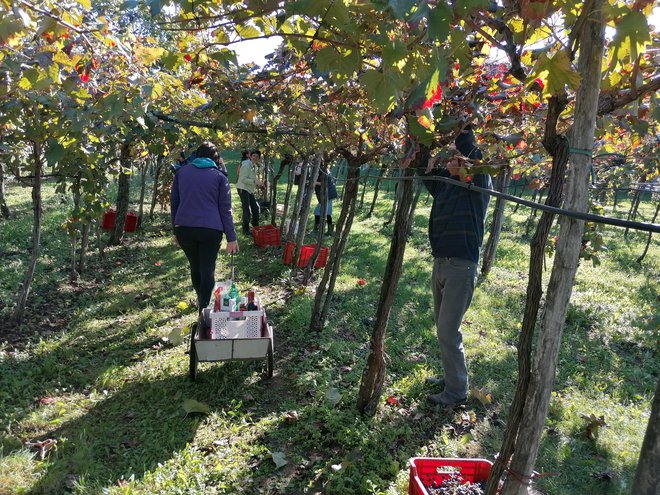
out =
[[486,459],[443,459],[413,457],[410,459],[408,495],[429,495],[426,486],[441,483],[451,474],[459,473],[463,480],[479,483],[488,480],[493,463]]

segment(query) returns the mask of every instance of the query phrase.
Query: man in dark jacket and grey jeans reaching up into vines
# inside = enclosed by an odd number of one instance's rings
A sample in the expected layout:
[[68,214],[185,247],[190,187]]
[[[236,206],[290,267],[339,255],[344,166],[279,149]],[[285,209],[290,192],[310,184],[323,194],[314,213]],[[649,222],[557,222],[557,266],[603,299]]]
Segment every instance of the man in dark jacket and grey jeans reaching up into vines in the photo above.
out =
[[[464,157],[470,160],[483,158],[469,126],[456,138],[455,144]],[[429,156],[428,149],[426,155]],[[461,174],[462,158],[459,155],[446,164],[437,161],[422,157],[419,169],[424,185],[433,196],[429,218],[429,240],[434,258],[433,305],[444,368],[444,377],[427,381],[443,388],[442,392],[429,396],[429,400],[452,407],[467,400],[468,375],[461,321],[470,306],[477,282],[479,250],[484,238],[484,220],[490,196],[432,180],[432,177],[470,181],[487,189],[492,188],[492,181],[488,174],[475,173],[471,178]]]

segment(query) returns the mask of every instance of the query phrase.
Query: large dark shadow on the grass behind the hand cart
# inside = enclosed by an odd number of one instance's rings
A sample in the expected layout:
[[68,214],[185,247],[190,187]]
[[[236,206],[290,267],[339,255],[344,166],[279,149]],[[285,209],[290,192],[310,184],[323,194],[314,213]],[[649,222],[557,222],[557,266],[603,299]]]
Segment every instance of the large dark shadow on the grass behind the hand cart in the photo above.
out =
[[48,438],[58,440],[57,450],[30,493],[59,494],[76,484],[86,493],[101,493],[119,480],[139,481],[184,452],[194,443],[198,428],[211,421],[211,416],[186,414],[184,400],[208,405],[213,415],[231,408],[245,394],[245,386],[239,384],[251,374],[251,367],[218,366],[221,371],[204,369],[195,383],[186,375],[128,382],[82,416],[49,432]]

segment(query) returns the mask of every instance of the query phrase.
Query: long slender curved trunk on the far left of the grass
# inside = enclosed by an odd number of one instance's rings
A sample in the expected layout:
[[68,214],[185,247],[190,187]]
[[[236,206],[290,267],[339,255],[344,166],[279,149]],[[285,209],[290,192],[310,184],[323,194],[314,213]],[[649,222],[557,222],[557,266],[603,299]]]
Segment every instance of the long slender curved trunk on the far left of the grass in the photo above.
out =
[[27,273],[23,279],[18,301],[16,302],[16,308],[12,314],[12,320],[16,325],[20,325],[25,317],[27,299],[30,294],[30,288],[32,287],[32,281],[34,280],[34,272],[37,267],[39,250],[41,248],[41,173],[43,162],[41,157],[41,143],[39,141],[32,142],[32,159],[34,161],[34,179],[32,180],[32,214],[34,215],[34,223],[32,224],[32,251]]

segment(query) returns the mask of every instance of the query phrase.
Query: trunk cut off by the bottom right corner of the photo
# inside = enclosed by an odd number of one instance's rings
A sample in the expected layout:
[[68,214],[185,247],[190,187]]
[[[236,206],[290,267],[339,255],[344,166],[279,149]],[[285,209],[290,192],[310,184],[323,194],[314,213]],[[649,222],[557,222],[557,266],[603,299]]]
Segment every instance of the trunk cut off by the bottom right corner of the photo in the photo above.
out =
[[635,495],[658,495],[660,493],[660,379],[655,387],[651,405],[651,416],[646,435],[639,453],[635,481],[630,493]]

